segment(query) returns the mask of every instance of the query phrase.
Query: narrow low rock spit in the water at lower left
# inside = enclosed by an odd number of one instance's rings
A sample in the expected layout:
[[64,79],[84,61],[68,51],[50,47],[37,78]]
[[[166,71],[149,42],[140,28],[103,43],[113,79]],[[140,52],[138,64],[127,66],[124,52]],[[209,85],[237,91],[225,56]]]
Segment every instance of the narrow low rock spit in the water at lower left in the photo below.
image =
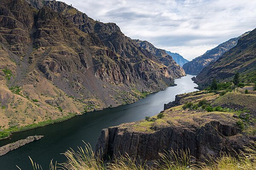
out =
[[6,153],[15,150],[19,147],[22,147],[25,144],[28,144],[30,142],[33,142],[35,140],[39,140],[44,136],[29,136],[26,139],[21,139],[17,142],[11,143],[11,144],[6,144],[2,147],[0,147],[0,156],[5,155]]

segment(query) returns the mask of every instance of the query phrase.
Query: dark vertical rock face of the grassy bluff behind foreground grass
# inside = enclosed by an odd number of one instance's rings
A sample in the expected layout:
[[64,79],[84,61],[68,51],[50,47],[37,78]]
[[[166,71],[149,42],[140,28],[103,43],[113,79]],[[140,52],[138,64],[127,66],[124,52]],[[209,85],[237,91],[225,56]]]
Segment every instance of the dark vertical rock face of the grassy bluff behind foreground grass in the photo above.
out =
[[219,121],[214,114],[205,116],[215,120],[202,123],[204,119],[198,118],[202,124],[197,126],[181,119],[179,125],[170,122],[167,127],[152,126],[154,131],[150,133],[131,130],[130,126],[134,126],[131,124],[103,129],[96,153],[105,159],[127,153],[131,159],[150,161],[160,159],[159,153],[168,150],[189,149],[192,156],[204,161],[203,156],[207,158],[207,154],[217,157],[232,148],[238,151],[248,142],[249,139],[241,140],[241,136],[237,135],[239,129],[234,122]]

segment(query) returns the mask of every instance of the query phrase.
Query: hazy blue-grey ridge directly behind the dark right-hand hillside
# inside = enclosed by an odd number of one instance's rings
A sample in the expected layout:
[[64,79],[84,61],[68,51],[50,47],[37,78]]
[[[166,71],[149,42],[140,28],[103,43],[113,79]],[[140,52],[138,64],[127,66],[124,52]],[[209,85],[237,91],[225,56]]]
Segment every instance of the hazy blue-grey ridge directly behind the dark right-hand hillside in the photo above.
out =
[[196,57],[190,62],[187,62],[183,65],[183,69],[186,72],[186,74],[198,74],[204,67],[209,65],[210,62],[216,61],[219,57],[221,57],[226,51],[230,50],[230,48],[233,48],[236,46],[237,41],[243,37],[244,35],[247,35],[248,33],[244,33],[243,35],[232,38],[226,42],[223,42],[222,44],[218,45],[215,48],[212,48],[211,50],[208,50],[203,55]]

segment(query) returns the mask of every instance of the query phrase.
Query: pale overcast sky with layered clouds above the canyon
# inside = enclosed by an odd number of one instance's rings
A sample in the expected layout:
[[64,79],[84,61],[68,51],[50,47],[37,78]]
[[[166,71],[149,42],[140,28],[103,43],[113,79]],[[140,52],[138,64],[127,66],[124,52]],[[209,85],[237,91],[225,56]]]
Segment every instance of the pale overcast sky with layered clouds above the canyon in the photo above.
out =
[[256,0],[61,0],[133,39],[193,59],[256,28]]

